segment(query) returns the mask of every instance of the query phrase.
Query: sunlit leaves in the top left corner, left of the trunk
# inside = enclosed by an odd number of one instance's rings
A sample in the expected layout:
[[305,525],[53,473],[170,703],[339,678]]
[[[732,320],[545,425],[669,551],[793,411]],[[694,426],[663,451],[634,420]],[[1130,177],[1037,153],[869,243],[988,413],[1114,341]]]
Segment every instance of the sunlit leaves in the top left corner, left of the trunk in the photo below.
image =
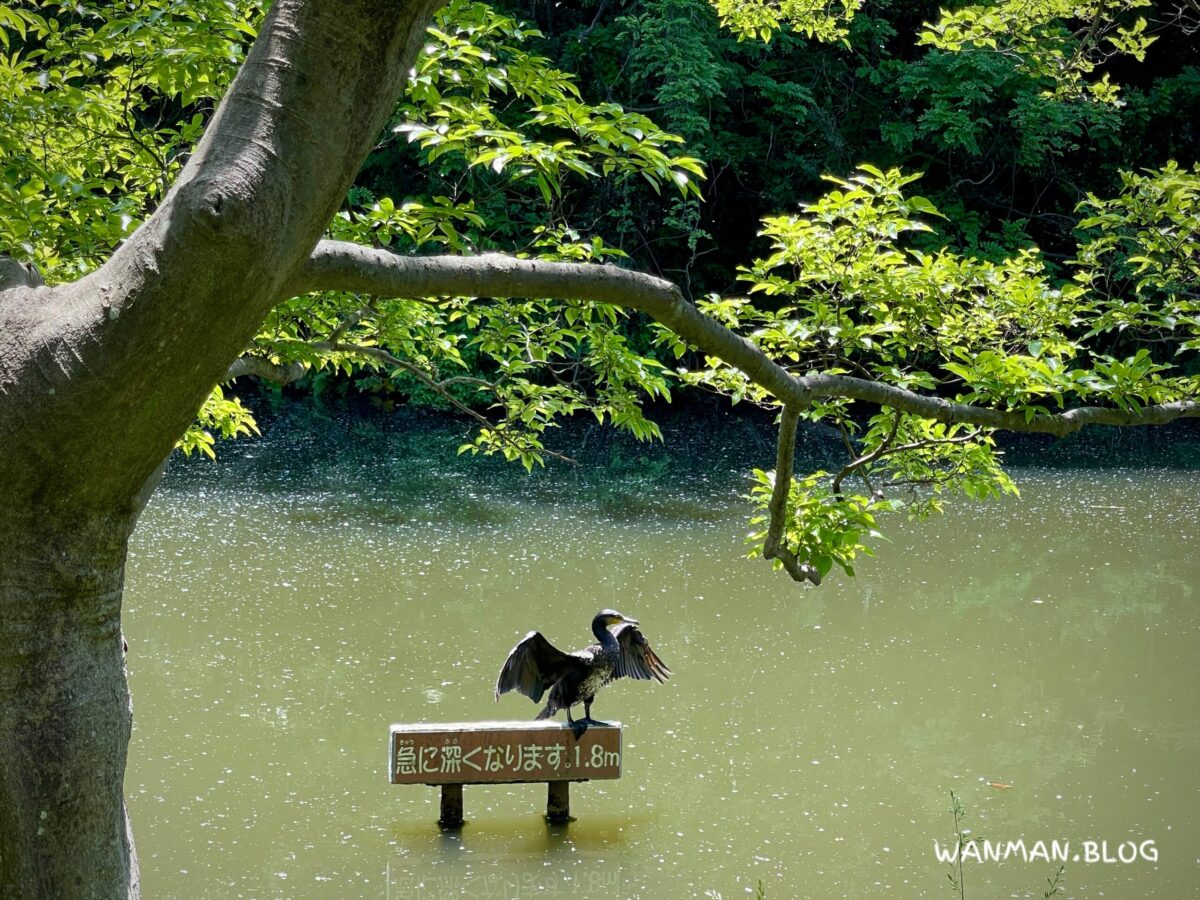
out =
[[258,5],[0,12],[0,248],[52,283],[70,280],[162,198],[253,38]]

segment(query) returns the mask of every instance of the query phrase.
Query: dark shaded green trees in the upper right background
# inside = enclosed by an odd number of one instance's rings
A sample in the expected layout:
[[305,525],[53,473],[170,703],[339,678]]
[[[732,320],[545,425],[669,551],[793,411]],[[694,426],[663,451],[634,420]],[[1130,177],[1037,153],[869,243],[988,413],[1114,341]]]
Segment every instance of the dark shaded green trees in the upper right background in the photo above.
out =
[[[582,95],[652,116],[704,161],[703,202],[662,203],[636,182],[589,185],[568,210],[652,271],[692,294],[725,292],[756,245],[760,218],[791,211],[870,162],[924,172],[922,192],[947,215],[943,240],[1002,258],[1030,245],[1074,251],[1088,192],[1120,190],[1120,172],[1196,158],[1196,41],[1174,4],[1144,11],[1156,41],[1145,62],[1104,61],[1120,103],[1044,96],[1055,79],[990,49],[918,43],[930,2],[869,4],[846,43],[793,31],[739,41],[707,0],[503,2],[535,23],[533,47],[577,76]],[[377,154],[360,182],[394,193]]]

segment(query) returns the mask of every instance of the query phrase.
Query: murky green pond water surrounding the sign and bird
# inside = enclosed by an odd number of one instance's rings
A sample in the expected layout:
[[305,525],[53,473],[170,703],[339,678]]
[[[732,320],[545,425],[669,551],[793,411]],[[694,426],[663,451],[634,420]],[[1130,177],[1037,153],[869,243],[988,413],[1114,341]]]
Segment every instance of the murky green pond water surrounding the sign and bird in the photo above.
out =
[[[742,558],[730,466],[526,481],[389,446],[257,445],[148,509],[148,896],[940,896],[950,790],[989,839],[1156,841],[1068,862],[1069,896],[1200,884],[1193,474],[1021,470],[1019,502],[893,522],[805,590]],[[444,834],[436,790],[386,784],[390,722],[532,718],[492,700],[504,655],[532,628],[581,646],[602,606],[676,676],[600,696],[625,774],[575,785],[577,821],[547,827],[541,785],[468,786]],[[967,895],[1040,896],[1055,868],[967,865]]]

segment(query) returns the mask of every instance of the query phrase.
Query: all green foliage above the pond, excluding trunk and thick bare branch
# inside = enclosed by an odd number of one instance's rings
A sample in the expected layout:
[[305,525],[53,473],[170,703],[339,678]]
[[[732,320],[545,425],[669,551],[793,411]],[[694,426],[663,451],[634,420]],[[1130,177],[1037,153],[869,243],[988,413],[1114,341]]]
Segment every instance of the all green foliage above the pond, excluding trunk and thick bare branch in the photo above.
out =
[[[0,250],[52,283],[101,264],[161,203],[260,14],[0,10]],[[643,401],[690,386],[781,407],[756,552],[814,582],[852,571],[880,512],[1012,491],[996,428],[1195,414],[1189,26],[1150,0],[455,0],[328,236],[650,268],[803,388],[780,396],[620,304],[370,284],[284,300],[228,376],[338,373],[452,406],[480,426],[464,450],[527,467],[568,414],[653,438]],[[1135,64],[1157,37],[1151,77]],[[1151,157],[1129,155],[1138,136]],[[779,476],[800,418],[844,437],[840,470]],[[253,428],[218,385],[181,445]]]

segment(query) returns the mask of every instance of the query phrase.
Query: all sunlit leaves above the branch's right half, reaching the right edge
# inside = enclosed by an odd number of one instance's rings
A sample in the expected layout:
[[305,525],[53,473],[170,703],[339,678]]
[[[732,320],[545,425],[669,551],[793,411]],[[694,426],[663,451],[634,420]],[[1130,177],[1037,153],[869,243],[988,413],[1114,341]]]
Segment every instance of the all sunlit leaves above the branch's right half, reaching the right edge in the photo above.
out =
[[[1085,246],[1093,272],[1055,283],[1034,251],[994,263],[918,250],[907,235],[928,233],[937,210],[920,197],[904,196],[913,176],[864,168],[800,215],[766,220],[763,234],[773,252],[742,277],[751,295],[762,294],[767,302],[718,298],[702,308],[744,329],[799,373],[869,374],[910,389],[958,383],[962,401],[1031,413],[1073,401],[1127,406],[1176,398],[1186,394],[1186,382],[1169,377],[1148,352],[1114,360],[1080,342],[1088,326],[1092,334],[1114,328],[1124,308],[1126,296],[1105,299],[1082,286],[1097,280],[1094,268],[1123,241],[1140,239],[1154,256],[1122,257],[1122,265],[1163,271],[1172,265],[1177,280],[1195,282],[1187,244],[1196,233],[1190,220],[1194,179],[1177,170],[1166,179],[1157,202],[1134,196],[1150,190],[1146,180],[1132,180],[1122,200],[1093,200],[1100,212],[1085,224],[1106,227]],[[1171,228],[1160,229],[1175,235],[1163,239],[1165,246],[1130,220],[1132,210],[1146,220],[1148,206],[1171,221]],[[1190,307],[1177,301],[1171,308],[1181,322],[1190,322],[1181,312]],[[734,397],[745,392],[719,366],[689,378]]]

